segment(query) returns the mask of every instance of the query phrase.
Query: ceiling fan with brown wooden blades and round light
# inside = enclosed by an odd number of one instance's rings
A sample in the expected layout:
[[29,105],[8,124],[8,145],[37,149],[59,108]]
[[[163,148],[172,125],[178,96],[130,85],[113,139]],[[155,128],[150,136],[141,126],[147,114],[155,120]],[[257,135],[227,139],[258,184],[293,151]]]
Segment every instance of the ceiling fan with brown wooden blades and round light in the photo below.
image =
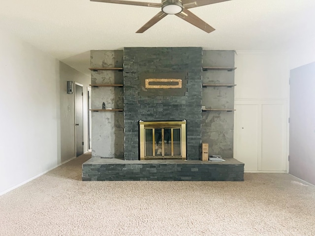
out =
[[204,6],[213,3],[219,3],[229,0],[162,0],[161,3],[154,2],[143,2],[143,1],[130,1],[130,0],[90,0],[90,1],[99,1],[99,2],[108,2],[108,3],[117,3],[117,4],[126,4],[126,5],[138,5],[138,6],[150,6],[150,7],[161,7],[161,11],[158,12],[150,21],[144,24],[136,33],[143,33],[162,18],[168,14],[176,15],[179,18],[182,18],[184,21],[189,22],[190,24],[198,27],[210,33],[215,29],[209,26],[206,22],[201,20],[199,17],[194,15],[189,8]]

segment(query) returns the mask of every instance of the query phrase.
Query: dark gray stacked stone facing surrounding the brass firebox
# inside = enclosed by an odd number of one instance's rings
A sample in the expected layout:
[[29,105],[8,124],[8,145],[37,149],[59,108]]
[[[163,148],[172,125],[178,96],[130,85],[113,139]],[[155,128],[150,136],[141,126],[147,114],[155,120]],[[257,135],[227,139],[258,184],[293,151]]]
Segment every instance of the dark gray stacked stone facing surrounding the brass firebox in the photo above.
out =
[[[187,159],[200,159],[202,48],[124,48],[125,159],[138,160],[139,120],[187,120]],[[143,96],[141,73],[187,74],[184,96]]]

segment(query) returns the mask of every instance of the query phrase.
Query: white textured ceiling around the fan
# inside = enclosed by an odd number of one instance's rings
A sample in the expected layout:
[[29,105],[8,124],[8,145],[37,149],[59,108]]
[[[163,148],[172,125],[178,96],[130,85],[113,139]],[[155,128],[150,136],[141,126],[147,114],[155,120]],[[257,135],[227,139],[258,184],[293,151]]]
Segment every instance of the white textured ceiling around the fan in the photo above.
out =
[[202,47],[256,51],[287,49],[315,39],[315,0],[230,0],[190,9],[216,29],[212,33],[174,15],[144,33],[135,33],[158,11],[156,7],[90,0],[2,0],[0,28],[84,73],[89,73],[90,50]]

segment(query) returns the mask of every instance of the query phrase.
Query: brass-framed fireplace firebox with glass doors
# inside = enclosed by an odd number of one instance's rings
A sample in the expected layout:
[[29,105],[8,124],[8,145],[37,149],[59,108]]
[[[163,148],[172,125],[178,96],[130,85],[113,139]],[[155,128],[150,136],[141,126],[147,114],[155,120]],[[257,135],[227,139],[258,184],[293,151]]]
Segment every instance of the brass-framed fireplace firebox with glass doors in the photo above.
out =
[[186,123],[140,120],[140,160],[186,160]]

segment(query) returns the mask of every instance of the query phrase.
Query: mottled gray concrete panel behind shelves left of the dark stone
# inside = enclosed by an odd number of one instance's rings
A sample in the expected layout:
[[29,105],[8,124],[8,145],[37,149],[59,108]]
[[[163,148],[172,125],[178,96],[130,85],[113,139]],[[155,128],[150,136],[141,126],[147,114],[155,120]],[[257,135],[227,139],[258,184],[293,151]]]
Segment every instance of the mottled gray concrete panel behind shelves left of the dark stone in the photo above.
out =
[[[91,67],[123,67],[123,50],[91,51]],[[122,85],[123,76],[123,72],[118,70],[91,70],[92,109],[102,109],[103,103],[106,109],[124,108],[124,89],[111,86]],[[92,111],[92,156],[124,157],[123,112]]]

